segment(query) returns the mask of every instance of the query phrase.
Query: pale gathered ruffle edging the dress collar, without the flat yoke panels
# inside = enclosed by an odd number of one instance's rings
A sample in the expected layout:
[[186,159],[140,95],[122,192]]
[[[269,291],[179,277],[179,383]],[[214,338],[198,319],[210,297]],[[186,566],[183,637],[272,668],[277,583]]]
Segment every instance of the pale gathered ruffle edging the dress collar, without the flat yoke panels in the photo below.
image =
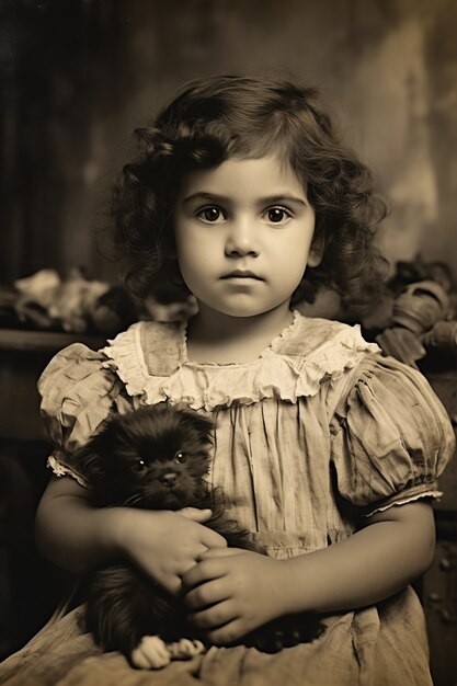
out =
[[[292,324],[258,359],[245,364],[188,362],[185,347],[181,346],[175,370],[163,376],[148,371],[140,341],[145,322],[138,322],[103,350],[107,357],[103,365],[119,376],[130,396],[144,396],[147,403],[185,402],[195,410],[212,411],[233,402],[252,404],[266,398],[296,402],[299,397],[315,396],[324,378],[336,380],[345,369],[355,367],[366,352],[379,352],[376,344],[362,338],[359,327],[335,323],[332,339],[308,354],[300,340],[296,353],[282,353],[300,320],[301,316],[294,313]],[[185,324],[176,329],[176,335],[184,340]],[[170,366],[168,362],[164,367]]]

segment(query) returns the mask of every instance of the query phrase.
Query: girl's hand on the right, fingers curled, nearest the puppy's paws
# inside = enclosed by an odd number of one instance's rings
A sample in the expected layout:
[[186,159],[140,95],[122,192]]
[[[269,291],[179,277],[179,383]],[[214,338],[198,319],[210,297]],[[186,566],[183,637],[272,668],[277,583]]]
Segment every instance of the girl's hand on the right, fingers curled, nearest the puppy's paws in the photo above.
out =
[[191,620],[216,644],[231,643],[284,614],[284,563],[250,550],[214,548],[183,576]]

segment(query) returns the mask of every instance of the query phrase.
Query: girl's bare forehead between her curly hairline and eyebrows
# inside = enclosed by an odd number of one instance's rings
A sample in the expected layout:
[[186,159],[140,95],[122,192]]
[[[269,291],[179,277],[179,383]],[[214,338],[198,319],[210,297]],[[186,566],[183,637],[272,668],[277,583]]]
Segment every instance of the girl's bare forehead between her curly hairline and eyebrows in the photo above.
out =
[[185,174],[179,195],[183,199],[195,194],[228,197],[294,194],[306,199],[306,184],[279,155],[253,159],[233,157],[217,167]]

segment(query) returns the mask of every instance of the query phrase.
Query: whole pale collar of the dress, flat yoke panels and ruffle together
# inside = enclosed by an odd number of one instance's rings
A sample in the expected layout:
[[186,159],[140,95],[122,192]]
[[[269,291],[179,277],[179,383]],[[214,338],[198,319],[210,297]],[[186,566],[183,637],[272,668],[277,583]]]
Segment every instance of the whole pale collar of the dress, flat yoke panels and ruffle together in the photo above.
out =
[[218,365],[188,359],[186,323],[140,321],[103,348],[104,366],[124,381],[130,396],[147,404],[185,402],[213,411],[266,398],[296,402],[313,396],[325,378],[354,367],[367,343],[358,325],[312,319],[294,311],[293,322],[249,363]]

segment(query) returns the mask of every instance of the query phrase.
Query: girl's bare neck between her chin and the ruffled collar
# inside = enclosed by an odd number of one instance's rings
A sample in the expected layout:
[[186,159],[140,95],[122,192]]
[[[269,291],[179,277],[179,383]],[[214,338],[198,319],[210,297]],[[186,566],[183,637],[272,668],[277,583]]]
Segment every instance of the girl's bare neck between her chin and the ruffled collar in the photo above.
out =
[[187,328],[188,359],[215,364],[253,362],[292,321],[288,304],[255,317],[229,317],[201,306]]

